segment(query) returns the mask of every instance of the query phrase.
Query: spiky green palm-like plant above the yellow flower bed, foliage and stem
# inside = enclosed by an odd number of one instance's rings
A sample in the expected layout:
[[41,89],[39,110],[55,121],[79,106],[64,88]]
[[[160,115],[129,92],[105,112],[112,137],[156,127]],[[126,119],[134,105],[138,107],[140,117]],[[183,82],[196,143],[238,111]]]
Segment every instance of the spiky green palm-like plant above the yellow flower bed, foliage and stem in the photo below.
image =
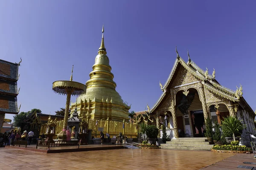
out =
[[237,119],[236,117],[228,116],[227,118],[224,118],[223,121],[221,121],[222,126],[225,126],[225,128],[230,132],[233,133],[233,139],[235,139],[235,133],[240,133],[241,130],[243,130],[246,125],[242,123],[242,120]]

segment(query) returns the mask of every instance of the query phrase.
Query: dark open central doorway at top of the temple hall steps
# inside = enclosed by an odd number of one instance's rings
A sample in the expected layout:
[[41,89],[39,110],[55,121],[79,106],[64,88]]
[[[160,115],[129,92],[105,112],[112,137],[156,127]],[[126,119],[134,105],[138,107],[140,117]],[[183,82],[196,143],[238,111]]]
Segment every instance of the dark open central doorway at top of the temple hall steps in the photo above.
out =
[[190,111],[194,137],[203,136],[204,113],[201,111]]

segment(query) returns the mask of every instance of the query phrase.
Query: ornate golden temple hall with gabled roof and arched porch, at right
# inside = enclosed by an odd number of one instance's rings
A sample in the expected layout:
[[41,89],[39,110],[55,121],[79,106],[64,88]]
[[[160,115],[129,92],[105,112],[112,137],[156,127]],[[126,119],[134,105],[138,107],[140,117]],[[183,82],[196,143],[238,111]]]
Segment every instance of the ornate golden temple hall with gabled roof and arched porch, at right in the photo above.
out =
[[[209,74],[190,59],[185,62],[178,54],[171,73],[164,85],[160,83],[163,91],[159,99],[147,111],[136,112],[137,123],[167,125],[167,134],[171,139],[179,137],[203,137],[202,127],[207,117],[221,120],[227,116],[243,120],[246,128],[242,138],[250,142],[249,133],[256,133],[254,119],[256,113],[244,99],[242,86],[236,91],[222,86],[215,79],[215,70]],[[161,131],[161,130],[160,130]],[[162,131],[161,131],[162,136]]]

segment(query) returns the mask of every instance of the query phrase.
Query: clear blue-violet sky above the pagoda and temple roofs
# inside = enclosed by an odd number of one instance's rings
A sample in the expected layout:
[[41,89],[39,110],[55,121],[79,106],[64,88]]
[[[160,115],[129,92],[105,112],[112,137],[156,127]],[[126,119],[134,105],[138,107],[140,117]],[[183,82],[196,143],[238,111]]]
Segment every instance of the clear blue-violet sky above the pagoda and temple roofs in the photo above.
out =
[[[0,1],[0,58],[19,62],[21,111],[55,114],[66,97],[52,82],[89,79],[105,25],[116,91],[131,111],[150,107],[180,57],[216,70],[216,79],[256,109],[256,1]],[[75,102],[75,98],[72,98]],[[7,115],[6,118],[12,118]]]

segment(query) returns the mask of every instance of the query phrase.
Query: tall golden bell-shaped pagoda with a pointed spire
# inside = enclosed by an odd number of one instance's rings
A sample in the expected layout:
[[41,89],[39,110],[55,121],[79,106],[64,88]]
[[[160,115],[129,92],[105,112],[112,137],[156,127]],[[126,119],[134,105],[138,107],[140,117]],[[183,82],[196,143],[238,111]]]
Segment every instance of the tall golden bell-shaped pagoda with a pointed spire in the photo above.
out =
[[[90,72],[90,79],[86,82],[86,94],[77,98],[77,112],[79,116],[87,116],[88,128],[97,131],[103,127],[103,132],[112,135],[119,132],[134,134],[137,136],[137,129],[134,128],[128,118],[128,106],[116,91],[114,75],[111,73],[111,66],[106,55],[104,45],[104,26],[102,27],[102,42],[95,58],[93,71]],[[71,112],[75,111],[76,103],[71,103]],[[131,124],[128,126],[128,124]],[[128,130],[127,132],[125,132]]]

